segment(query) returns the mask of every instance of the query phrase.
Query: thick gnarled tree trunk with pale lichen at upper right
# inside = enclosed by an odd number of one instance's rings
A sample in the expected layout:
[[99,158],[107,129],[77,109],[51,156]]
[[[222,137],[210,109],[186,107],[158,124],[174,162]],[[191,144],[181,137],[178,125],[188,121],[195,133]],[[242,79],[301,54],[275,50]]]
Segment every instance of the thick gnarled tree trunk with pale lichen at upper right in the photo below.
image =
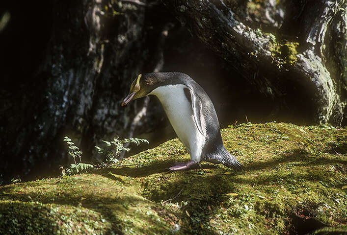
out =
[[163,3],[261,93],[315,122],[346,123],[346,0]]

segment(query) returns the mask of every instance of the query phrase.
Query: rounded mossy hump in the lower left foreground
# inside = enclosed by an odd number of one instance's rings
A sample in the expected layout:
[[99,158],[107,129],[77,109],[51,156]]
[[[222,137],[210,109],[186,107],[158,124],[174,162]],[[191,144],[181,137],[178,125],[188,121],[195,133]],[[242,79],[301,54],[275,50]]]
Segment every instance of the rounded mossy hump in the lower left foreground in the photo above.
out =
[[[110,231],[114,234],[117,231],[125,234],[169,232],[170,221],[164,221],[156,212],[160,206],[138,195],[135,188],[99,174],[8,185],[1,188],[0,195],[0,234],[22,234],[18,231],[66,235],[109,234]],[[33,233],[27,231],[29,222]],[[89,225],[94,227],[89,228]]]

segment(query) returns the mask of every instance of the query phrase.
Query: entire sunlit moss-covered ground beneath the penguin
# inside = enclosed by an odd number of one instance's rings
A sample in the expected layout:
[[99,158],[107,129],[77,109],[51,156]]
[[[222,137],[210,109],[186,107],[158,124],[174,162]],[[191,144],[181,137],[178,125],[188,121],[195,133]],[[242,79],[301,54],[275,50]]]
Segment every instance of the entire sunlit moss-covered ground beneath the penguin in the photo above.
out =
[[177,139],[92,173],[0,187],[0,234],[347,234],[347,131],[223,129],[244,170],[201,164]]

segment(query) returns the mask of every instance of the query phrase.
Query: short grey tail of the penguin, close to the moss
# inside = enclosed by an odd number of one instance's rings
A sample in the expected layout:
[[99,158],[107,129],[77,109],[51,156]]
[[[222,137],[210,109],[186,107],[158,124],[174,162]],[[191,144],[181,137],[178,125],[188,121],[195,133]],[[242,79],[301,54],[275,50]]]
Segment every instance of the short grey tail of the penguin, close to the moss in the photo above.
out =
[[235,169],[235,170],[243,170],[244,166],[239,163],[239,161],[231,155],[223,146],[219,149],[218,153],[214,153],[209,156],[209,159],[206,161],[212,162],[212,163],[221,163],[225,166],[228,166],[229,168]]

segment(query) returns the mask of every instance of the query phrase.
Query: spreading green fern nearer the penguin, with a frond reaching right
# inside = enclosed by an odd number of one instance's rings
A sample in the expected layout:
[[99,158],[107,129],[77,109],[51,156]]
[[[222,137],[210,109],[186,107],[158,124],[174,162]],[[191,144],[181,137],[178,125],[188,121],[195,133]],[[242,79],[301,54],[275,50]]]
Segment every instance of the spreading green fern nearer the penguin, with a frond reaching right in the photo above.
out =
[[119,140],[117,138],[113,138],[113,141],[103,141],[106,143],[106,147],[102,148],[99,146],[95,146],[95,148],[98,150],[98,153],[101,153],[106,157],[106,163],[107,164],[115,164],[118,161],[119,154],[123,151],[129,152],[130,148],[124,147],[125,143],[135,143],[136,145],[139,145],[141,142],[149,143],[147,140],[144,139],[138,139],[138,138],[130,138],[130,139],[124,139]]

